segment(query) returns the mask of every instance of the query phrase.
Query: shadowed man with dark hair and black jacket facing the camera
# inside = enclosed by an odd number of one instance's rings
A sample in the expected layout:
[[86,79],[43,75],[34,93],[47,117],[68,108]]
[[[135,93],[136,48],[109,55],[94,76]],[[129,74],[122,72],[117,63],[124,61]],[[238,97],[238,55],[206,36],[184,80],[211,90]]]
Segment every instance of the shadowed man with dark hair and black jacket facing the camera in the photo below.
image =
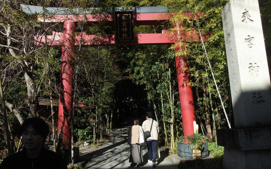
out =
[[63,158],[44,148],[49,127],[41,118],[29,118],[21,126],[20,134],[24,148],[6,157],[0,169],[67,169]]

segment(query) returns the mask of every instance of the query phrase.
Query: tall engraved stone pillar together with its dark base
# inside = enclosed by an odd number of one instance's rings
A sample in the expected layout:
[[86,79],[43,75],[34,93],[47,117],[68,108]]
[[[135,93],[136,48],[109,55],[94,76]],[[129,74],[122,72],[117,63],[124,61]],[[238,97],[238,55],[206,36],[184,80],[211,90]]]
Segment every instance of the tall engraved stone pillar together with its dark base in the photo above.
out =
[[271,168],[271,90],[258,0],[222,10],[234,129],[217,131],[223,168]]

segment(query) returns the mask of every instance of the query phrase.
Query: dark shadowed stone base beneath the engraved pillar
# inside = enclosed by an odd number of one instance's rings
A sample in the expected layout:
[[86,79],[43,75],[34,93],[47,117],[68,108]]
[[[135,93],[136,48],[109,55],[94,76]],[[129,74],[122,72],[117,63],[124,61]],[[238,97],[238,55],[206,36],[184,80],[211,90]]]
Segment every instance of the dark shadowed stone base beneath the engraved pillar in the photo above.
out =
[[271,169],[271,128],[219,129],[223,169]]

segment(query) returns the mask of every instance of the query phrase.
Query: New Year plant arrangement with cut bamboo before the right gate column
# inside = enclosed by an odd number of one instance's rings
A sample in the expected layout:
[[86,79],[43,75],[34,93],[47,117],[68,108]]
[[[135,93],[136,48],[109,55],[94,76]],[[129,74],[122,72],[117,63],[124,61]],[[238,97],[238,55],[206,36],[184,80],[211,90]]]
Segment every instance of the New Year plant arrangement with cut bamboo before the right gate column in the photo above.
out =
[[186,137],[188,139],[189,147],[193,151],[193,159],[201,159],[201,151],[203,150],[203,135],[199,133],[191,134]]

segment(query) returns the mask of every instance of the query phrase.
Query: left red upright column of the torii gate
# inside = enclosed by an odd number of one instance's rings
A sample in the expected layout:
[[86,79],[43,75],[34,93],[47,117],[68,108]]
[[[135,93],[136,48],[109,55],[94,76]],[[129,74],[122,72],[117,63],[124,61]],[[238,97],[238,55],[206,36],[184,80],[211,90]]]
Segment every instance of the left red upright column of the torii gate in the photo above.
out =
[[71,148],[71,115],[74,95],[72,78],[74,40],[72,38],[72,32],[74,32],[74,30],[74,22],[64,22],[57,130],[63,130],[63,141],[67,143],[66,149]]

